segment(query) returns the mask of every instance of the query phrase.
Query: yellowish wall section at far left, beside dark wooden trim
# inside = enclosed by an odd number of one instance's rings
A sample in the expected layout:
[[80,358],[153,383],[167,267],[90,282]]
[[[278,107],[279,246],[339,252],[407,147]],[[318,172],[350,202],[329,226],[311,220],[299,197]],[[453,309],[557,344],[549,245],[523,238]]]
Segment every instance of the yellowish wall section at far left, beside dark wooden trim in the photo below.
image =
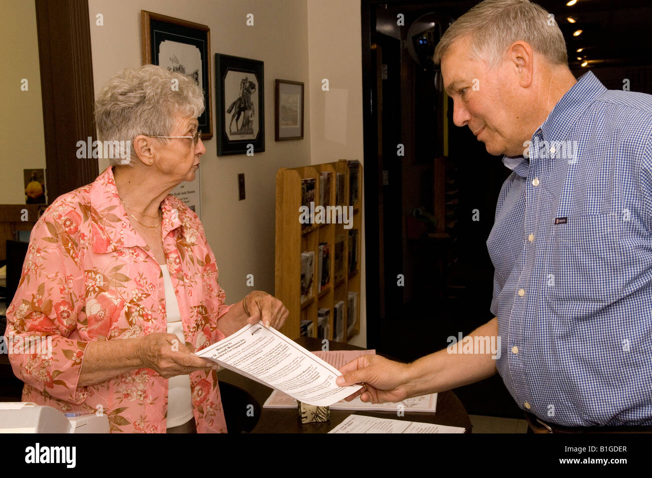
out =
[[[0,16],[0,204],[25,204],[23,169],[45,167],[34,1],[5,0]],[[21,90],[27,79],[27,91]],[[47,171],[46,171],[47,175]],[[47,180],[47,177],[46,177]]]

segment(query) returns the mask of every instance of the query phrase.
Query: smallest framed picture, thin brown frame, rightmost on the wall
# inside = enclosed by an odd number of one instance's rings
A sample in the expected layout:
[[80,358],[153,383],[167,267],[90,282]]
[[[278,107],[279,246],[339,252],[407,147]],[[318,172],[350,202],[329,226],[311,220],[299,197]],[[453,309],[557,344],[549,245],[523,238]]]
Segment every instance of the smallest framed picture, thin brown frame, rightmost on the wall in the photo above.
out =
[[274,140],[303,139],[303,83],[276,79]]

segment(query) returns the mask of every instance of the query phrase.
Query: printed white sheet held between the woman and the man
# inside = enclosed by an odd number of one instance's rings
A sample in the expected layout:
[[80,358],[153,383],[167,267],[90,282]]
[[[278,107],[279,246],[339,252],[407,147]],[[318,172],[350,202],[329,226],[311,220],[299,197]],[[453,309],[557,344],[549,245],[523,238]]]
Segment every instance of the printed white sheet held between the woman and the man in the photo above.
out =
[[338,386],[337,369],[261,322],[247,324],[197,355],[309,405],[330,406],[362,388]]

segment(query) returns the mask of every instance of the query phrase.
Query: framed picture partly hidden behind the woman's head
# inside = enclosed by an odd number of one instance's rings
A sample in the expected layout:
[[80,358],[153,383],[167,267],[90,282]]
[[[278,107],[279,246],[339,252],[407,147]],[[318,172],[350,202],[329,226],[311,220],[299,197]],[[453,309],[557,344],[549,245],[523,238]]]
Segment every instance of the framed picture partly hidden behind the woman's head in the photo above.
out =
[[198,118],[201,140],[213,137],[211,105],[211,30],[206,25],[140,10],[143,64],[158,64],[191,76],[204,94]]

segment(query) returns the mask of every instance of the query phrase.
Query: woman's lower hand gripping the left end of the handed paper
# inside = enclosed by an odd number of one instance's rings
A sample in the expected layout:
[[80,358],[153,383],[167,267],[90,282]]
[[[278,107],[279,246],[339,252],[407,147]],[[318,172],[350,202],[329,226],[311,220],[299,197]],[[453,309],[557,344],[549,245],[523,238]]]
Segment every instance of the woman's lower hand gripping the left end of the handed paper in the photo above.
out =
[[155,370],[163,378],[219,368],[214,361],[196,356],[192,345],[186,346],[173,333],[150,333],[140,339],[143,367]]

